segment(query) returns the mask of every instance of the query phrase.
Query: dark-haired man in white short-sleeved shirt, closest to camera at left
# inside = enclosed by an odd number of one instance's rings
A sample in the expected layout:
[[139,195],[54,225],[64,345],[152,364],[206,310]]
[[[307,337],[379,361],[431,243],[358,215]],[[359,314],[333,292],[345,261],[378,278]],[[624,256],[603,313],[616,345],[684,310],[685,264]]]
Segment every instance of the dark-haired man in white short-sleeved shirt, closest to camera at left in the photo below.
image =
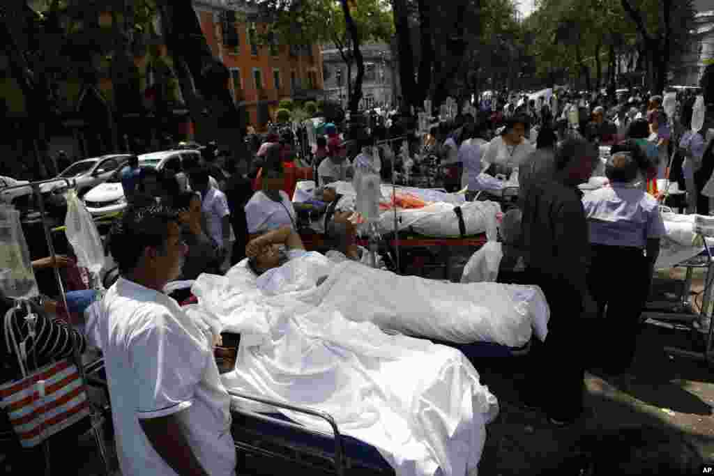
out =
[[109,239],[121,278],[99,304],[96,338],[122,474],[235,475],[231,400],[214,336],[162,292],[186,254],[176,213],[130,208]]

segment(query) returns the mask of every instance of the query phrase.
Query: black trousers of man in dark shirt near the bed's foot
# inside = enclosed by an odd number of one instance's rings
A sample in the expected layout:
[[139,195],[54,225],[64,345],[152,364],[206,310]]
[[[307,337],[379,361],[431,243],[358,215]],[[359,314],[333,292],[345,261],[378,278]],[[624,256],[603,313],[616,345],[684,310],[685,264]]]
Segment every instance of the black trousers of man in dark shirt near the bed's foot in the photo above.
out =
[[573,420],[583,412],[585,391],[583,296],[567,281],[543,270],[529,268],[526,274],[528,283],[543,290],[550,320],[545,342],[533,338],[522,396],[549,417]]

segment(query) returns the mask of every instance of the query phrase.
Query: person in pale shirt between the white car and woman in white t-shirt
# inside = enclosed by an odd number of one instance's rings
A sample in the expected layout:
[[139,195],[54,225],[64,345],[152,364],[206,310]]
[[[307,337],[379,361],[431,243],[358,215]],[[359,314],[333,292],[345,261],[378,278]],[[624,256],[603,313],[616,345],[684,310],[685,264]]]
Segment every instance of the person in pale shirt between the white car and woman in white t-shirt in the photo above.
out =
[[228,208],[226,194],[210,185],[208,171],[205,168],[191,171],[191,186],[201,194],[201,211],[206,221],[208,238],[218,248],[218,256],[225,258],[228,244],[231,242],[231,210]]

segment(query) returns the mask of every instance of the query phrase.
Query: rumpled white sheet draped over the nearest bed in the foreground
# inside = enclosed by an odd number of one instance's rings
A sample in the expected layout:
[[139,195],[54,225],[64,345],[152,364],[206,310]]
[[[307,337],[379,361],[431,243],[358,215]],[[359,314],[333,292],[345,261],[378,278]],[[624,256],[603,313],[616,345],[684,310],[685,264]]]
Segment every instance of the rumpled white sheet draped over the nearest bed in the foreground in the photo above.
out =
[[[265,295],[240,265],[228,277],[199,276],[193,292],[204,313],[241,333],[236,369],[223,375],[229,390],[330,413],[399,476],[476,470],[498,402],[461,352],[297,299],[311,290]],[[330,432],[320,420],[284,413]]]

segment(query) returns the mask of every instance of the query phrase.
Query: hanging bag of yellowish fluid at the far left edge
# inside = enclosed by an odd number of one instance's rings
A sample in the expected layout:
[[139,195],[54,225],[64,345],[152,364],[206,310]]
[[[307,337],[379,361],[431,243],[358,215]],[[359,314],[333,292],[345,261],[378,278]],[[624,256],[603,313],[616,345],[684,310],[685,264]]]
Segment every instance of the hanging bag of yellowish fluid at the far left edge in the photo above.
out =
[[0,205],[0,290],[14,299],[39,295],[20,212],[5,205]]

